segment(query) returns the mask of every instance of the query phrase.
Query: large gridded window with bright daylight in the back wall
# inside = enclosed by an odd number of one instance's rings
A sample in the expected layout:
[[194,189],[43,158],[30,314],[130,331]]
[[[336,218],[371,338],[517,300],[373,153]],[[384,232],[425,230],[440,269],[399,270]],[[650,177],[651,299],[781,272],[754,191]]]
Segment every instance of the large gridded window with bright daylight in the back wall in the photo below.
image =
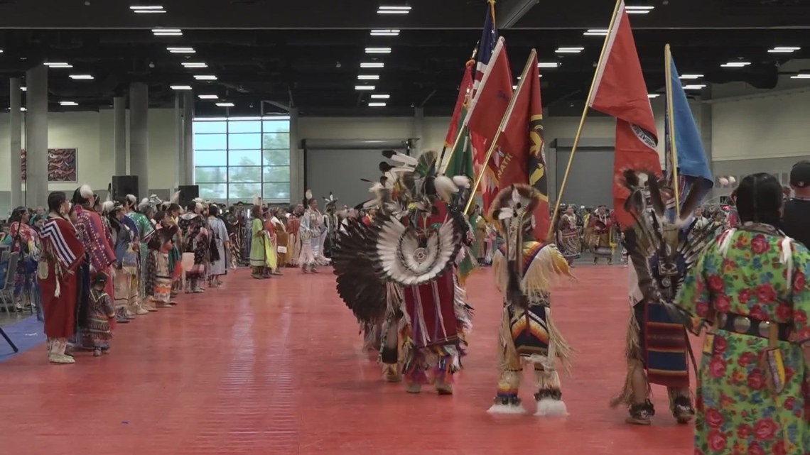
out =
[[194,183],[212,201],[289,202],[289,117],[194,119]]

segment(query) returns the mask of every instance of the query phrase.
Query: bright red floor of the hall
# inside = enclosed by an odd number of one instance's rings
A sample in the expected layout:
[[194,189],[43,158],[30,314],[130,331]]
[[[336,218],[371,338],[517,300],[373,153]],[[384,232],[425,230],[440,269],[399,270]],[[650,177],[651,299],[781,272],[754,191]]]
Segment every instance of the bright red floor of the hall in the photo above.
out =
[[[693,453],[692,427],[676,425],[665,389],[654,389],[652,427],[625,425],[625,410],[608,408],[625,374],[620,266],[579,267],[579,283],[553,296],[578,349],[563,380],[565,419],[487,414],[501,311],[489,270],[468,282],[475,329],[452,397],[382,382],[323,271],[256,281],[240,270],[218,291],[119,326],[108,356],[51,366],[37,347],[0,364],[0,453]],[[521,393],[534,411],[529,375]]]

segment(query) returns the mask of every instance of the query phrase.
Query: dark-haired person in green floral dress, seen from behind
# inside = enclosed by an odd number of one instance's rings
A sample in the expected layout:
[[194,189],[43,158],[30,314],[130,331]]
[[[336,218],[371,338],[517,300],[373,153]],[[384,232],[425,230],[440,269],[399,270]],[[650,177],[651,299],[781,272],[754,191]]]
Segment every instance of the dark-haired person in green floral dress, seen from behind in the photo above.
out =
[[779,229],[782,185],[737,191],[739,228],[718,236],[676,297],[697,335],[695,453],[810,453],[810,252]]

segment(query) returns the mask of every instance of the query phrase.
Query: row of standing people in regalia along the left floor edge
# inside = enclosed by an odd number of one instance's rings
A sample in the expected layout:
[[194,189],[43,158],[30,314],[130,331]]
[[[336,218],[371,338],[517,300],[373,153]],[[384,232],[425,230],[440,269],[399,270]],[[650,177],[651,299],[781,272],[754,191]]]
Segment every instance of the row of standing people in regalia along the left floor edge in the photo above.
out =
[[51,363],[75,363],[75,349],[109,353],[117,324],[176,305],[184,283],[186,293],[220,286],[228,237],[218,209],[199,200],[185,209],[154,196],[101,203],[88,185],[72,202],[49,194],[35,243]]

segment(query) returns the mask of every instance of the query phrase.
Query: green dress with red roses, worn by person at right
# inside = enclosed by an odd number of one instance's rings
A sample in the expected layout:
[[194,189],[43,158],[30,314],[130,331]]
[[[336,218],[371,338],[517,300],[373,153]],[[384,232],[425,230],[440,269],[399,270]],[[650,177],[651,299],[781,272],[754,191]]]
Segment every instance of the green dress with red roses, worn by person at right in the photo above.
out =
[[680,288],[678,306],[706,325],[717,313],[735,313],[790,328],[791,341],[779,342],[787,377],[778,394],[760,368],[767,338],[710,330],[716,335],[704,346],[698,372],[695,455],[810,453],[808,366],[799,346],[810,339],[810,253],[796,242],[791,250],[788,282],[774,228],[732,229],[710,245]]

